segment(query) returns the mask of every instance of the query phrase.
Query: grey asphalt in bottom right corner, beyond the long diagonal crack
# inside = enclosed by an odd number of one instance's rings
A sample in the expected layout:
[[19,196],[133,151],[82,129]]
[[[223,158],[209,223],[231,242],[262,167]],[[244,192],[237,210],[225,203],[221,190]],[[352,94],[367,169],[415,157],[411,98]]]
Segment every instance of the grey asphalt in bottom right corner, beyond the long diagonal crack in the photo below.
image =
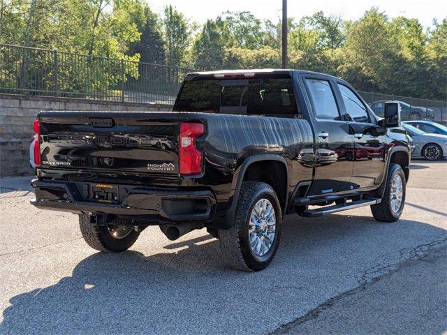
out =
[[434,248],[402,262],[274,334],[446,334],[446,251]]

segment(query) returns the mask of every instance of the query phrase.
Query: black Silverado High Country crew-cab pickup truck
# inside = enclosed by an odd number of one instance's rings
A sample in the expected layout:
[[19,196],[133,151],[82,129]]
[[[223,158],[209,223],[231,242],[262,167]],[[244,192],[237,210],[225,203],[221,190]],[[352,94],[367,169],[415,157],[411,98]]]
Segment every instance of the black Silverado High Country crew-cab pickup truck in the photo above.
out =
[[257,271],[286,214],[371,206],[397,221],[409,178],[399,107],[379,119],[343,80],[302,70],[191,73],[172,112],[40,112],[32,204],[79,214],[89,246],[128,249],[148,225],[207,228]]

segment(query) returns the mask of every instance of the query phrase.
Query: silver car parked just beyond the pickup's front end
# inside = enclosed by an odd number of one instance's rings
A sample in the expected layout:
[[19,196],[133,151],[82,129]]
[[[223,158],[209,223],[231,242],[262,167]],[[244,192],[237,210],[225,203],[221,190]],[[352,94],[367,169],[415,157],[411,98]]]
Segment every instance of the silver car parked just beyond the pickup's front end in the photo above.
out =
[[411,156],[423,157],[428,161],[437,161],[447,157],[447,135],[425,133],[405,122],[402,122],[402,126],[414,143]]

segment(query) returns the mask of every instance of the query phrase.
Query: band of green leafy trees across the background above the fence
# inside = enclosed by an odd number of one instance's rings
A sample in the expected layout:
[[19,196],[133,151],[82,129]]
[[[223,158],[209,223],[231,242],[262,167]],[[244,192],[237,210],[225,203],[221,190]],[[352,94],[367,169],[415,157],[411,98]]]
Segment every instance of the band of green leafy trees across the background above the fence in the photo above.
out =
[[[0,42],[203,70],[281,65],[279,18],[227,11],[198,25],[145,0],[0,0]],[[378,8],[354,21],[320,11],[289,18],[288,43],[291,68],[364,91],[446,99],[447,18],[427,28]],[[131,66],[126,73],[138,77]]]

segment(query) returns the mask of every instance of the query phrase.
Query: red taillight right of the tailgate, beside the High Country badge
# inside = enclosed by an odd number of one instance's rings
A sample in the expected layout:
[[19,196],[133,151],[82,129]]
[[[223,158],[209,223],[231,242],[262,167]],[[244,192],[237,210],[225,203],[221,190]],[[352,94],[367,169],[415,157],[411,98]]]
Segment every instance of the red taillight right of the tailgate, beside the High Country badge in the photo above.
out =
[[196,138],[205,133],[203,124],[182,122],[179,139],[179,173],[202,172],[202,153],[196,148]]

